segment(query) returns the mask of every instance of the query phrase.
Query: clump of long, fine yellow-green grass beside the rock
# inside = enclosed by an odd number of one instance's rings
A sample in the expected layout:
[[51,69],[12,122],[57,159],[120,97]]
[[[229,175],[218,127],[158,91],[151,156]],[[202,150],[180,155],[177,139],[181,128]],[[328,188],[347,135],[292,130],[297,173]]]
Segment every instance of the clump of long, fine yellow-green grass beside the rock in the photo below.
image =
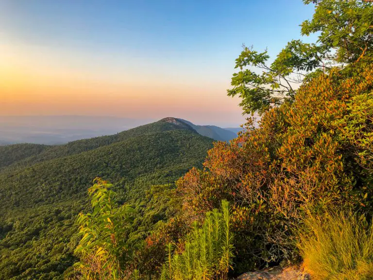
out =
[[352,212],[310,215],[298,247],[314,280],[373,279],[373,224]]

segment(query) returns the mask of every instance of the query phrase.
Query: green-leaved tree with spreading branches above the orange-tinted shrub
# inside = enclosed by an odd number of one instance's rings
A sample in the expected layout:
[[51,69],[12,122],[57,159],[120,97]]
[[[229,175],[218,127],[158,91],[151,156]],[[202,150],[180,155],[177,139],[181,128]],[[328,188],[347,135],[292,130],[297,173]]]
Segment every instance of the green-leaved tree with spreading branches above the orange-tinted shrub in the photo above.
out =
[[292,40],[269,64],[267,50],[243,46],[229,96],[239,96],[243,113],[263,113],[293,102],[305,80],[343,69],[348,75],[373,62],[373,4],[362,0],[304,0],[315,4],[311,20],[301,24],[301,35],[318,33],[316,43]]

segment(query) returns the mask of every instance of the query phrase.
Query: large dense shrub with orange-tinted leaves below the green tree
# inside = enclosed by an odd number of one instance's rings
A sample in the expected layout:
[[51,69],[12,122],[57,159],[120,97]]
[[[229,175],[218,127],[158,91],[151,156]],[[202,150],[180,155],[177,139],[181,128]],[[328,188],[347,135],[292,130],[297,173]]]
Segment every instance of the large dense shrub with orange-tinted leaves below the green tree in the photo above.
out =
[[371,210],[372,162],[373,69],[349,78],[332,71],[265,113],[258,128],[215,143],[205,169],[177,185],[190,217],[231,201],[236,247],[247,253],[239,255],[257,266],[288,257],[288,227],[305,210]]

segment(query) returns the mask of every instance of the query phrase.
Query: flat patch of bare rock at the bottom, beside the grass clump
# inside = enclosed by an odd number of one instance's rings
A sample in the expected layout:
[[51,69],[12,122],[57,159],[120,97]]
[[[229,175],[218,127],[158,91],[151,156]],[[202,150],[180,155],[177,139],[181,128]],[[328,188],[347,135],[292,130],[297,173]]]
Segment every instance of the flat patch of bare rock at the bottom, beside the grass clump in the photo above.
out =
[[298,267],[280,266],[240,275],[237,280],[311,280],[311,277]]

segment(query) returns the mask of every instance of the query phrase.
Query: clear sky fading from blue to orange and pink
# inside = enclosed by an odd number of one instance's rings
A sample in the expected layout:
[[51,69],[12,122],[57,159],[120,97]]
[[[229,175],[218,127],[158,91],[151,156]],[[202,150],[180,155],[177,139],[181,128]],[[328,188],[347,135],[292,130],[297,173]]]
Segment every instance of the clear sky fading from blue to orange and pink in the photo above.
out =
[[0,0],[0,115],[84,115],[237,126],[242,44],[274,57],[302,0]]

